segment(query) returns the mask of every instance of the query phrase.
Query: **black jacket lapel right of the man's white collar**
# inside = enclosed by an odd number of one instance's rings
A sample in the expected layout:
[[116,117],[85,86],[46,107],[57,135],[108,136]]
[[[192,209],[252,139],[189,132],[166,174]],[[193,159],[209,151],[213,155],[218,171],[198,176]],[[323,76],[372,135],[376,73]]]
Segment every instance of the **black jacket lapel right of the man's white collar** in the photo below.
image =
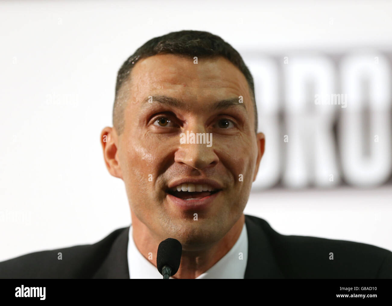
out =
[[284,278],[274,259],[272,247],[261,221],[260,218],[245,215],[248,261],[244,278]]

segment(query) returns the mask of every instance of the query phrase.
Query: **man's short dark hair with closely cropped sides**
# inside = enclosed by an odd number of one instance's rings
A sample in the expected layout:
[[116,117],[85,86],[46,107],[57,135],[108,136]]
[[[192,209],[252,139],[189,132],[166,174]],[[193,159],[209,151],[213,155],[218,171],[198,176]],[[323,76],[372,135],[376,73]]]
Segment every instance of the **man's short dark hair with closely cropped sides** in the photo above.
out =
[[229,43],[217,35],[203,31],[184,30],[152,38],[142,47],[137,49],[118,70],[116,82],[116,95],[113,105],[113,126],[118,135],[123,132],[123,110],[125,103],[119,97],[120,88],[131,75],[131,70],[138,60],[148,58],[156,54],[178,54],[182,56],[194,56],[212,58],[223,56],[233,63],[245,76],[250,88],[254,108],[254,130],[257,133],[258,118],[256,99],[254,95],[254,82],[252,74],[245,65],[240,54]]

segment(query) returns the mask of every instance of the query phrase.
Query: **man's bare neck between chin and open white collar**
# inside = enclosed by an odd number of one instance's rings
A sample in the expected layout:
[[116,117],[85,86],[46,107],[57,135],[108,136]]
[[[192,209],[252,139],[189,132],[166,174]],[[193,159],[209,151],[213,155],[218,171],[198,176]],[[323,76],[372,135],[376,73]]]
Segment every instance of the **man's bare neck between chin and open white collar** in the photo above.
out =
[[[152,234],[146,225],[138,220],[132,211],[131,217],[132,236],[135,245],[146,259],[149,259],[149,253],[152,253],[152,260],[149,260],[149,262],[156,267],[156,252],[158,250],[158,245],[162,240]],[[229,232],[214,245],[198,251],[183,251],[181,265],[174,278],[193,279],[215,265],[236,243],[240,237],[244,223],[245,215],[242,214]]]

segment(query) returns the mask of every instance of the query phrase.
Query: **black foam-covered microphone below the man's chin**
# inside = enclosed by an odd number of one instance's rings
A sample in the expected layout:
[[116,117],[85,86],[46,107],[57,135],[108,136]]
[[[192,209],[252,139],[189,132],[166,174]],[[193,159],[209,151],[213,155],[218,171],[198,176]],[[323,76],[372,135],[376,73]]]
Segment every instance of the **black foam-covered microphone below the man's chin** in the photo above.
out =
[[169,279],[180,268],[182,245],[174,238],[163,240],[158,246],[156,267],[163,279]]

